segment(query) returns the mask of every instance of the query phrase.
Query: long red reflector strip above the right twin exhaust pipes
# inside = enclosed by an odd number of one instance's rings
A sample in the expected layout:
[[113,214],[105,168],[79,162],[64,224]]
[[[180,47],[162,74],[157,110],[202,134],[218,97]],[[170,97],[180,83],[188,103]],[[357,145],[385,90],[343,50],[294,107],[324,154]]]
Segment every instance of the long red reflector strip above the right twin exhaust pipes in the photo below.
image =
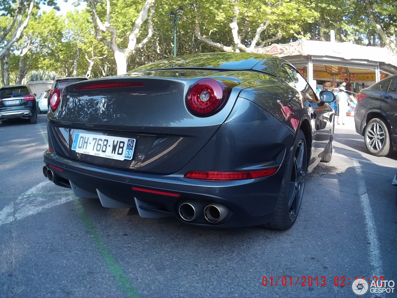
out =
[[185,174],[185,178],[202,179],[202,180],[243,180],[254,179],[273,175],[278,168],[269,168],[266,170],[252,172],[197,172],[191,171]]

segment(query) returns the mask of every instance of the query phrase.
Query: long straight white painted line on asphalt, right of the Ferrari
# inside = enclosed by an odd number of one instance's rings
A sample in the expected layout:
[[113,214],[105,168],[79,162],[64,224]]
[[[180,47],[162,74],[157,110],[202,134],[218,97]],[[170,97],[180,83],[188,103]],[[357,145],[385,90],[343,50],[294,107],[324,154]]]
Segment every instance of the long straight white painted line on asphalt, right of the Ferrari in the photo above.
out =
[[357,175],[357,188],[358,188],[358,197],[360,198],[360,204],[362,211],[364,212],[364,223],[365,230],[367,234],[368,241],[368,254],[369,261],[372,265],[372,275],[371,276],[382,276],[382,259],[380,253],[380,244],[376,232],[376,225],[374,221],[374,215],[372,214],[372,209],[370,205],[370,200],[367,194],[367,188],[365,185],[364,174],[362,173],[360,163],[358,163],[357,159],[352,159],[353,163],[355,163],[355,171]]

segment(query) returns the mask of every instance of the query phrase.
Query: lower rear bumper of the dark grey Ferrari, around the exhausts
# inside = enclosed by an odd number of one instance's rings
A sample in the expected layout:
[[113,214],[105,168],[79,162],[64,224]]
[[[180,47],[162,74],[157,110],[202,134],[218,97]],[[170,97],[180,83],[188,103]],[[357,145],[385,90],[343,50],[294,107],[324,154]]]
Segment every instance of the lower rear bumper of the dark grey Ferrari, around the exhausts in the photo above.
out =
[[[254,226],[270,221],[276,209],[283,176],[283,166],[269,177],[223,182],[187,179],[183,174],[154,175],[128,170],[116,172],[69,161],[49,151],[44,153],[44,163],[52,169],[54,183],[72,188],[78,197],[99,195],[102,205],[106,205],[103,198],[123,202],[137,207],[142,217],[175,216],[188,224],[211,227]],[[136,188],[171,195],[146,193]],[[179,215],[179,207],[187,200],[197,202],[202,209],[212,202],[221,203],[229,213],[218,223],[208,222],[203,212],[197,219],[185,221]]]

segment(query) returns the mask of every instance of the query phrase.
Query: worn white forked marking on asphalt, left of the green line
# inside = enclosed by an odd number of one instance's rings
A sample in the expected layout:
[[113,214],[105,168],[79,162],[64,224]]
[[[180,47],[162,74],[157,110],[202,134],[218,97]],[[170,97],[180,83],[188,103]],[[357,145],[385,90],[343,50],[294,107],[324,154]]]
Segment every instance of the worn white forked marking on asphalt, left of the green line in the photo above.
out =
[[[12,201],[2,210],[0,210],[0,226],[11,223],[19,219],[24,219],[30,215],[40,213],[41,211],[64,204],[73,200],[73,195],[62,194],[60,197],[47,195],[46,197],[33,197],[32,194],[42,192],[42,188],[51,185],[52,182],[46,180],[33,186],[31,189],[20,195],[15,201]],[[50,201],[52,199],[52,201]]]

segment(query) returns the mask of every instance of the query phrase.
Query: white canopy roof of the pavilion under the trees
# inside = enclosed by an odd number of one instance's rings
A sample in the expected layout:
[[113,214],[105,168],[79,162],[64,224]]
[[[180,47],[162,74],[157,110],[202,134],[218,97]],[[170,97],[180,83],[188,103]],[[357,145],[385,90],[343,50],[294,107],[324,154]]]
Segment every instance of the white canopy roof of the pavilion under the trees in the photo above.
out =
[[397,55],[387,48],[376,46],[303,39],[283,45],[257,48],[255,52],[283,57],[296,68],[305,68],[309,82],[319,77],[328,79],[329,77],[321,75],[328,73],[326,66],[342,66],[344,70],[338,77],[340,79],[347,74],[361,76],[363,80],[379,81],[386,75],[397,74]]

